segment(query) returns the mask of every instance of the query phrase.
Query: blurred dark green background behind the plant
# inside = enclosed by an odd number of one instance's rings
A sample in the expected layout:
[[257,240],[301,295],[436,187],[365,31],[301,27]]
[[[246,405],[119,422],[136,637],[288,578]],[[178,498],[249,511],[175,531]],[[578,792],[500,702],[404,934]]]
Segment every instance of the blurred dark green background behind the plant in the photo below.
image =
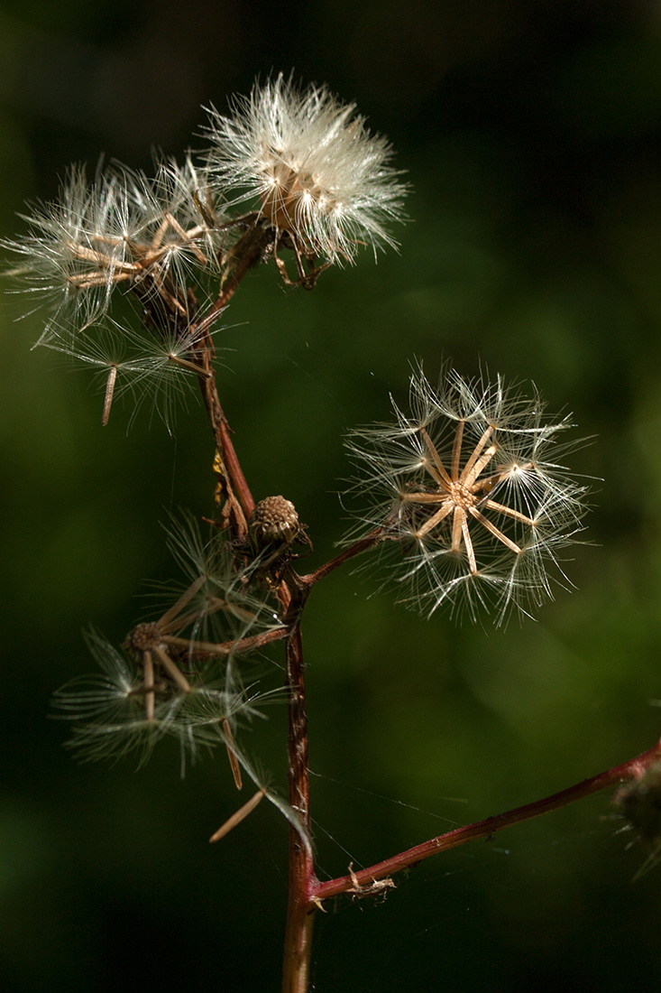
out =
[[[593,544],[538,623],[425,623],[334,574],[305,632],[320,875],[369,865],[650,747],[661,712],[661,8],[651,0],[362,4],[2,0],[0,223],[54,196],[70,161],[150,168],[201,139],[200,104],[292,68],[355,100],[414,188],[401,254],[365,253],[313,294],[273,267],[231,305],[219,381],[257,497],[343,531],[341,436],[443,356],[534,379],[595,444]],[[30,347],[6,297],[0,361],[7,709],[0,797],[6,991],[277,990],[287,831],[238,805],[226,763],[179,778],[77,766],[49,720],[92,667],[80,631],[121,639],[167,579],[169,509],[208,513],[210,437],[192,399],[171,438],[130,407],[100,427],[84,371]],[[254,751],[284,782],[284,708]],[[462,800],[460,802],[459,800]],[[387,903],[320,915],[319,993],[656,989],[661,868],[605,795],[430,860]]]

